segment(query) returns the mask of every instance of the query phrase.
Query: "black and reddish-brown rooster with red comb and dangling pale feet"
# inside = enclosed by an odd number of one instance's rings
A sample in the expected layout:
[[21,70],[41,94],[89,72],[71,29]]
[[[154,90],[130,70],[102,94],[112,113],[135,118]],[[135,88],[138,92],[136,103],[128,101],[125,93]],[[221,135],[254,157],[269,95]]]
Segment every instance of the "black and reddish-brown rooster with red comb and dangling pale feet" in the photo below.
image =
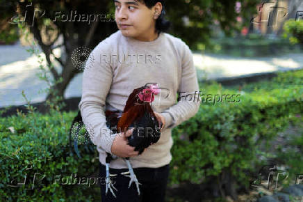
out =
[[[161,132],[159,129],[163,123],[158,122],[153,109],[151,109],[151,102],[154,101],[154,95],[157,95],[160,91],[157,84],[148,83],[145,86],[133,90],[133,93],[129,95],[126,101],[123,112],[109,110],[105,112],[107,126],[110,129],[117,130],[117,133],[122,132],[122,130],[126,132],[129,127],[133,127],[133,132],[131,136],[127,137],[127,141],[129,146],[133,146],[136,151],[139,151],[138,155],[140,155],[145,148],[160,139]],[[111,160],[115,159],[117,159],[116,155],[106,153],[106,194],[109,189],[113,196],[115,196],[113,189],[116,191],[117,189],[110,180],[109,164]],[[129,187],[131,187],[132,182],[135,182],[138,194],[140,195],[139,185],[141,185],[141,183],[138,182],[133,172],[129,157],[125,157],[124,160],[126,161],[129,171],[122,174],[129,174],[126,175],[130,178]]]

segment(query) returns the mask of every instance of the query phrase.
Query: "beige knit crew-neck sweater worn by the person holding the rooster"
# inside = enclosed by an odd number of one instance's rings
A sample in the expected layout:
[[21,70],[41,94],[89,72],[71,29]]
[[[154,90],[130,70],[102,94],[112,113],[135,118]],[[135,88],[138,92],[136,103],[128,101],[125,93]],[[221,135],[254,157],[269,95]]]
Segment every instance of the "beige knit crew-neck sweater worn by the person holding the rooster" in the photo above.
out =
[[[121,31],[99,42],[90,54],[83,72],[79,109],[90,138],[97,146],[101,164],[105,164],[106,152],[111,153],[115,139],[115,134],[106,126],[104,111],[123,111],[133,89],[147,83],[167,88],[155,95],[151,104],[154,111],[165,117],[166,124],[157,143],[130,158],[133,168],[169,164],[172,128],[197,113],[201,100],[193,55],[183,40],[169,33],[160,33],[156,40],[144,42],[124,37]],[[181,95],[179,102],[178,93]],[[110,162],[110,168],[127,166],[123,158],[118,157]]]

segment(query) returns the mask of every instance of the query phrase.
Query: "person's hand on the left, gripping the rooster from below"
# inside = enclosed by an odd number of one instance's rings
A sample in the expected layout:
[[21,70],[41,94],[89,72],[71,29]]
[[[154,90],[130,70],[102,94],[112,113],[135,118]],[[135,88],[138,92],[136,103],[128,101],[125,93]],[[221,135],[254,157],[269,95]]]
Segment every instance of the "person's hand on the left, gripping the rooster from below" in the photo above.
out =
[[129,146],[126,137],[133,134],[133,129],[127,130],[125,133],[120,132],[116,134],[116,137],[111,146],[111,153],[119,157],[135,157],[138,156],[139,151],[135,151],[135,147]]

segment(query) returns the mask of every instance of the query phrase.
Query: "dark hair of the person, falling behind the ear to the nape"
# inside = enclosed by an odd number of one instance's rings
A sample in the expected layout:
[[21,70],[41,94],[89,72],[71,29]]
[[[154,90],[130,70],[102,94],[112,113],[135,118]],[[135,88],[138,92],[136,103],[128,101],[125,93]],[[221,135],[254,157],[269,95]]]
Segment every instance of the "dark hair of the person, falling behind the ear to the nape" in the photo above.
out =
[[140,3],[144,3],[147,8],[151,9],[151,7],[155,6],[157,2],[162,3],[162,12],[161,15],[156,20],[156,31],[158,33],[165,32],[170,29],[170,22],[164,19],[165,16],[165,0],[137,0]]

